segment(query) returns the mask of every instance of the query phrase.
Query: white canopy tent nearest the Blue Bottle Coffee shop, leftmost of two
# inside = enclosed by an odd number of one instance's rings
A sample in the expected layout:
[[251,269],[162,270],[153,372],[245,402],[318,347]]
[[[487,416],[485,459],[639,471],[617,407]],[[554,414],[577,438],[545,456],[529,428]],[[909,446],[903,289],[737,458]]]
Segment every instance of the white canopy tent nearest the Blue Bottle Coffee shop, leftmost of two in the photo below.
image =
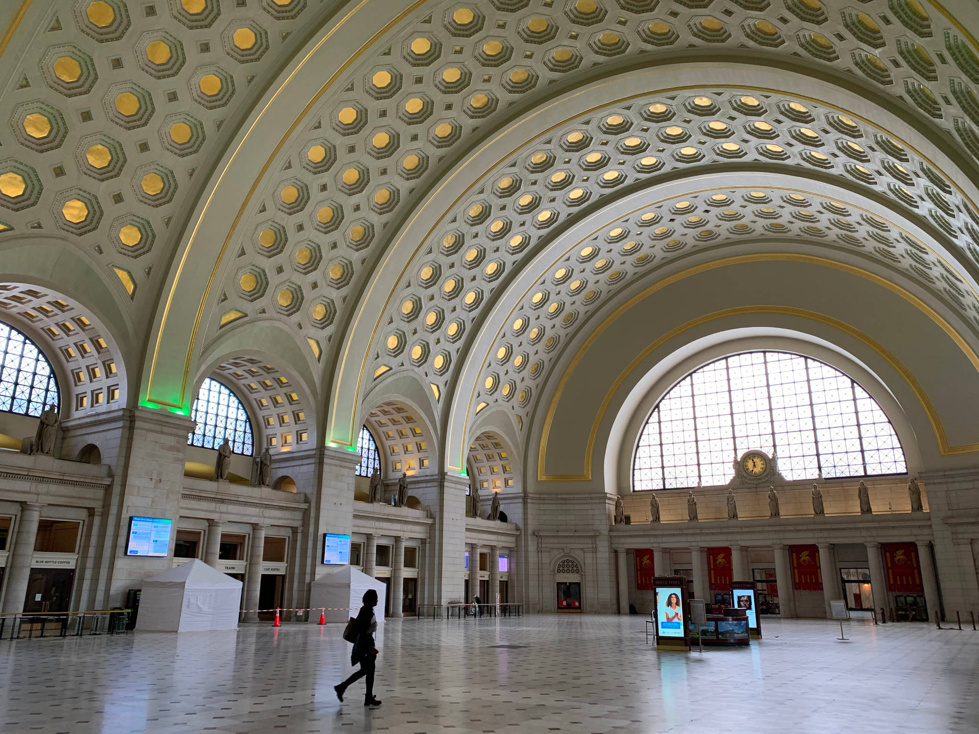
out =
[[143,581],[136,629],[237,629],[242,582],[194,559]]

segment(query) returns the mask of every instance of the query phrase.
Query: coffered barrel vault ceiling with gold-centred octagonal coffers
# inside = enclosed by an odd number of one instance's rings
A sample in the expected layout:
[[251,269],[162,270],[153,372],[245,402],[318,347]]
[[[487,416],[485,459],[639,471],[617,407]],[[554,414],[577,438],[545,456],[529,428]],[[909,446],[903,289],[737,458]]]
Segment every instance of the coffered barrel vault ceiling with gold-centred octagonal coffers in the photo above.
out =
[[[499,405],[524,432],[555,360],[603,303],[674,258],[764,242],[900,274],[967,339],[979,333],[979,49],[938,3],[78,0],[28,11],[0,57],[13,69],[0,247],[49,233],[98,264],[153,329],[146,363],[129,366],[144,376],[133,400],[186,407],[195,365],[220,364],[225,335],[276,321],[303,345],[297,371],[333,381],[307,436],[350,443],[371,407],[359,395],[403,372],[443,418],[461,410],[468,425]],[[364,13],[369,42],[323,56]],[[327,58],[318,83],[330,84],[310,87],[304,109],[262,97]],[[704,62],[698,83],[669,83],[670,65]],[[712,82],[711,65],[738,64],[809,75],[866,104],[751,73]],[[655,89],[499,134],[629,69],[667,70]],[[266,111],[289,117],[285,137],[241,127]],[[433,208],[453,166],[489,147],[498,162]],[[235,156],[265,161],[260,177],[236,180]],[[724,186],[725,171],[765,175]],[[704,175],[710,184],[657,195]],[[226,189],[241,192],[238,210],[199,204]],[[628,215],[597,213],[637,191],[646,202]],[[587,217],[587,238],[538,256]],[[402,237],[412,224],[425,235]],[[181,291],[194,278],[202,286]],[[518,280],[534,287],[507,299]]]

